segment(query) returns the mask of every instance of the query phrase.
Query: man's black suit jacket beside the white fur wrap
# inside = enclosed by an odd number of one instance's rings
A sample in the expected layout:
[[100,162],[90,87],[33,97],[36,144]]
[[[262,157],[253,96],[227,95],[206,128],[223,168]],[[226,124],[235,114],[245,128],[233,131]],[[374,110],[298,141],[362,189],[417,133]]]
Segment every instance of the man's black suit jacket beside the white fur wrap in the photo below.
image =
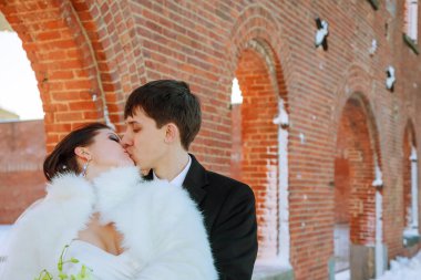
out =
[[[240,182],[206,170],[191,157],[192,166],[183,186],[204,215],[219,280],[249,280],[257,256],[253,190]],[[147,178],[153,178],[152,172]]]

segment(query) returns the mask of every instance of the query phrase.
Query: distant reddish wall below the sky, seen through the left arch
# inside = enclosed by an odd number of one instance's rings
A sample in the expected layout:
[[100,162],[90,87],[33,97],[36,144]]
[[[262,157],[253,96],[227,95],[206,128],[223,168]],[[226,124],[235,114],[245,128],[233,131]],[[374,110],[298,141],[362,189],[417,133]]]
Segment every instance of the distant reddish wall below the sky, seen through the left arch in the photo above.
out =
[[0,123],[0,225],[13,224],[44,195],[43,120]]

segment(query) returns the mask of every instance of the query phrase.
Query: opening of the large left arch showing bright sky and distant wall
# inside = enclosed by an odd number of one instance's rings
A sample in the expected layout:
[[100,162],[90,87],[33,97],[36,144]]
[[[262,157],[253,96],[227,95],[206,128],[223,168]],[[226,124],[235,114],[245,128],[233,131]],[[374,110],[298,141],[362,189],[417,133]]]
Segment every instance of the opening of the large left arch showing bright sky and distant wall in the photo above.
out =
[[[45,157],[45,133],[34,72],[21,40],[1,11],[0,33],[1,44],[4,44],[1,45],[4,52],[0,55],[0,72],[4,73],[0,79],[1,101],[6,101],[7,105],[7,100],[14,100],[16,103],[9,106],[17,113],[12,117],[0,114],[0,225],[10,225],[33,199],[44,193],[42,160]],[[1,101],[0,111],[4,112]],[[19,106],[23,106],[27,112],[19,110]],[[2,228],[0,248],[1,231]]]

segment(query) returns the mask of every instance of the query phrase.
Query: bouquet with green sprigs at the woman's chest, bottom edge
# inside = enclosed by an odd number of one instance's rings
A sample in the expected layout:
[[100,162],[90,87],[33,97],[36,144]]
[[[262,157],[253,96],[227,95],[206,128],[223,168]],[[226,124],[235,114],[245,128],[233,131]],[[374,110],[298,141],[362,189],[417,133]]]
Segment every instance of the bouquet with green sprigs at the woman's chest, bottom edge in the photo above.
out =
[[[85,265],[82,265],[81,270],[76,274],[66,274],[63,272],[63,265],[65,263],[78,263],[79,260],[75,258],[70,258],[69,260],[63,260],[63,255],[65,250],[69,248],[69,245],[64,246],[63,250],[61,251],[59,262],[57,263],[58,270],[59,270],[59,279],[64,280],[93,280],[92,277],[92,270],[88,268]],[[38,277],[34,278],[34,280],[54,280],[54,278],[51,276],[51,273],[43,269]]]

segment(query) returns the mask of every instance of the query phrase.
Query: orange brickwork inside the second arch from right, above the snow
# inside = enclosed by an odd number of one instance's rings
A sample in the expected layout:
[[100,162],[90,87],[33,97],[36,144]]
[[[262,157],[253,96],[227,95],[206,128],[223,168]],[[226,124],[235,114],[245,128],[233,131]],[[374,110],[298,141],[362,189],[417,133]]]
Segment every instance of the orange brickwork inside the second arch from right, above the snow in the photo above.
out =
[[377,189],[372,183],[376,163],[381,168],[381,154],[374,116],[363,94],[349,96],[337,127],[333,220],[349,225],[353,246],[367,247],[376,242]]

